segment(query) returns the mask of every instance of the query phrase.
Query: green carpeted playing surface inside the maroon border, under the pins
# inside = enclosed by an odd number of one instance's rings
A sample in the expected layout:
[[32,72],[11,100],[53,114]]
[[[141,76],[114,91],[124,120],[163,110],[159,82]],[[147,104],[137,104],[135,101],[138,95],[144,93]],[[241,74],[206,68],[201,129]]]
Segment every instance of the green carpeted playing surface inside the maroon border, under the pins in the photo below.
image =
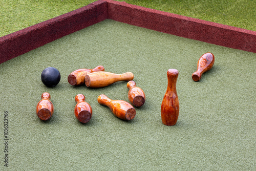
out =
[[[191,79],[201,55],[215,55],[199,82]],[[177,37],[106,19],[0,65],[1,132],[8,111],[10,170],[253,170],[256,142],[256,54]],[[132,121],[97,102],[100,94],[129,101],[126,81],[109,87],[74,87],[68,75],[99,65],[132,72],[146,95]],[[55,67],[59,84],[47,88],[42,70]],[[166,72],[177,69],[180,114],[162,124]],[[51,94],[54,114],[41,121],[35,106]],[[74,116],[75,96],[92,106],[90,122]],[[4,166],[4,144],[2,164]]]

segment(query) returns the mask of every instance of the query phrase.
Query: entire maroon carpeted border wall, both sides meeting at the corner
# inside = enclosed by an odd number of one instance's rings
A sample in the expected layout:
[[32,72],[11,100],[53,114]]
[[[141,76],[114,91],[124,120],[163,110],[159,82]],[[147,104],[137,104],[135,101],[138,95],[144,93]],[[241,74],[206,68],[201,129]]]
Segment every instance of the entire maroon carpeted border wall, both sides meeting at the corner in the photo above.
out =
[[107,18],[163,33],[256,53],[255,31],[148,9],[125,2],[99,0],[0,37],[0,63]]

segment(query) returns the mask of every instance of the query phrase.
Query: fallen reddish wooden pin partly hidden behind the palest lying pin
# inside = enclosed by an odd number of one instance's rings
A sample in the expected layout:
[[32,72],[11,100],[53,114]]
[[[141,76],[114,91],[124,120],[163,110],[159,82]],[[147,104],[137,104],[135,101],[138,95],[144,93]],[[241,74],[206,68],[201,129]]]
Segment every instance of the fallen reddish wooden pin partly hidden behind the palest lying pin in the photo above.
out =
[[103,66],[98,66],[94,69],[79,69],[73,71],[71,74],[68,76],[68,81],[72,86],[79,86],[81,84],[84,84],[84,77],[92,72],[97,72],[97,71],[104,71]]

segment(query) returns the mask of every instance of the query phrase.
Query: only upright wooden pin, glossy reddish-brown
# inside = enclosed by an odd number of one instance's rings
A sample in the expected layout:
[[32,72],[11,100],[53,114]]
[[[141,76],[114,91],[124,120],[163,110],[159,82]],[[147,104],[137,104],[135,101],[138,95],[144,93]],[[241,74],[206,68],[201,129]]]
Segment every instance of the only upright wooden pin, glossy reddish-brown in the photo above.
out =
[[179,100],[176,92],[176,82],[179,72],[175,69],[169,69],[167,71],[167,90],[163,97],[161,105],[161,118],[165,125],[175,125],[179,116]]

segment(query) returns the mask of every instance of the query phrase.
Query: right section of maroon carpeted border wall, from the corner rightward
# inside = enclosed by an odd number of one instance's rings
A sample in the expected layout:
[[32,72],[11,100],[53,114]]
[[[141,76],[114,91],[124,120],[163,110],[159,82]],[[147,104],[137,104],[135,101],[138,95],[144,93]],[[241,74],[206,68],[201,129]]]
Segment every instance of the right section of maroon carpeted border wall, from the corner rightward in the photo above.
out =
[[147,29],[256,53],[256,32],[205,20],[148,9],[125,2],[108,2],[108,18]]

